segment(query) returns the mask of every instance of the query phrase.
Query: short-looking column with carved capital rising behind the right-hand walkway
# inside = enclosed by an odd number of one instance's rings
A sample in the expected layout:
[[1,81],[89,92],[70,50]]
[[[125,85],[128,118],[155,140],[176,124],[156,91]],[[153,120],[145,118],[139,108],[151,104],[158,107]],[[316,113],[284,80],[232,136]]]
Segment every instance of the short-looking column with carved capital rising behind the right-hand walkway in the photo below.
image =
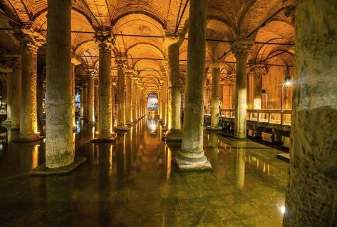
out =
[[261,109],[262,76],[266,74],[266,66],[264,64],[256,64],[250,67],[250,71],[254,76],[253,109]]

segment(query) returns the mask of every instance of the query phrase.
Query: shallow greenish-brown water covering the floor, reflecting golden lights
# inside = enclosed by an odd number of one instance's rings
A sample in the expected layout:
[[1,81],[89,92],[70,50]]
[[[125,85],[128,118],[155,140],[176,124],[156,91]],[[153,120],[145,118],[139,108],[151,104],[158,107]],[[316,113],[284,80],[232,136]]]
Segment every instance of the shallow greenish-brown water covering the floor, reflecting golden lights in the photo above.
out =
[[95,128],[73,134],[88,160],[65,176],[32,177],[45,141],[8,143],[0,133],[0,226],[281,226],[288,164],[252,141],[204,133],[213,171],[178,173],[179,143],[162,142],[145,118],[113,144],[93,144]]

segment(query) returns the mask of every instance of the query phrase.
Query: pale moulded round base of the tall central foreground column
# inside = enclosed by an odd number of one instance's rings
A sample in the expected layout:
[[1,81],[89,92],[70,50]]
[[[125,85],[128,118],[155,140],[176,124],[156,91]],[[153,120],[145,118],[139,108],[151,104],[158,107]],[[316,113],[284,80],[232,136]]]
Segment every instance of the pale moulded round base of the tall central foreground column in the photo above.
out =
[[186,158],[178,154],[175,158],[175,164],[179,172],[212,171],[212,165],[206,156],[202,156],[201,158]]

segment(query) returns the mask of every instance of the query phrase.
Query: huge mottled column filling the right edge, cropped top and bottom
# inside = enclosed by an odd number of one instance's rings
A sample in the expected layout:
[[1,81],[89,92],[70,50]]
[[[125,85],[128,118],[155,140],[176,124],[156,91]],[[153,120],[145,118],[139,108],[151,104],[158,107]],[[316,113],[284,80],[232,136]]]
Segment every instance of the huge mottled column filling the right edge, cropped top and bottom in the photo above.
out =
[[296,1],[295,16],[296,83],[283,225],[336,226],[337,2]]

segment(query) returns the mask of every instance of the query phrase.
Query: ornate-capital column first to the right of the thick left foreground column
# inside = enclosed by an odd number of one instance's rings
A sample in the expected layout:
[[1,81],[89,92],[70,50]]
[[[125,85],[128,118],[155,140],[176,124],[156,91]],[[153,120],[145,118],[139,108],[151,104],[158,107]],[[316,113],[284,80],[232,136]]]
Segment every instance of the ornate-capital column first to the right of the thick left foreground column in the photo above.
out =
[[[111,94],[111,48],[112,37],[110,28],[96,31],[95,39],[99,43],[100,65],[98,74],[99,111],[98,111],[98,138],[92,142],[112,142],[113,137],[113,104]],[[94,113],[93,113],[94,114]]]

